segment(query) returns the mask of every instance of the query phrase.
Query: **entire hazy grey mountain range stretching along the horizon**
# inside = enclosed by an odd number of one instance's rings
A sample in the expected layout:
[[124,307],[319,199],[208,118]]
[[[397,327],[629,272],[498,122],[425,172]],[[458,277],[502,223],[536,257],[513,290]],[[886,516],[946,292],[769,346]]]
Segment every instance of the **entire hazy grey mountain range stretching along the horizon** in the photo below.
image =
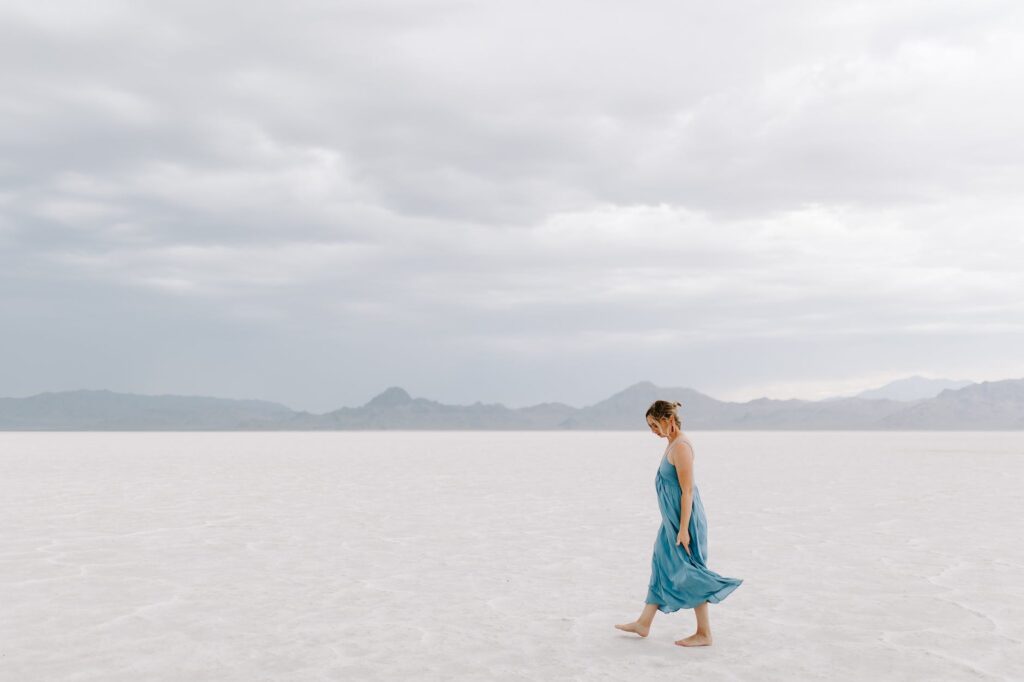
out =
[[641,381],[584,408],[542,402],[515,409],[479,401],[444,404],[391,386],[361,407],[322,415],[262,400],[83,390],[0,398],[0,430],[630,430],[646,428],[644,413],[659,398],[679,400],[683,427],[692,429],[1024,429],[1024,379],[1008,379],[915,400],[746,402]]

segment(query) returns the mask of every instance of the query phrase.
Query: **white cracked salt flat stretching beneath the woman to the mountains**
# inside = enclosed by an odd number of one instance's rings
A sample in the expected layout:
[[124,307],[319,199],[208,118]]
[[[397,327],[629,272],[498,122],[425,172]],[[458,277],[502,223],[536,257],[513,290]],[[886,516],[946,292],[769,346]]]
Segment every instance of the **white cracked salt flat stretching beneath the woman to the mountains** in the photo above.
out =
[[1024,433],[688,433],[697,649],[643,431],[0,433],[0,679],[1024,679]]

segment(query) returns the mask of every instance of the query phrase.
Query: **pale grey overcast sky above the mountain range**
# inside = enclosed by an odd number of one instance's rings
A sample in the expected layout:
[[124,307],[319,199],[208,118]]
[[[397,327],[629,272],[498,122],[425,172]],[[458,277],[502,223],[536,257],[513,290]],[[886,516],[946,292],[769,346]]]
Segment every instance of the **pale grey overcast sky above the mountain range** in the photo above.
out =
[[0,0],[0,395],[1024,377],[1024,3]]

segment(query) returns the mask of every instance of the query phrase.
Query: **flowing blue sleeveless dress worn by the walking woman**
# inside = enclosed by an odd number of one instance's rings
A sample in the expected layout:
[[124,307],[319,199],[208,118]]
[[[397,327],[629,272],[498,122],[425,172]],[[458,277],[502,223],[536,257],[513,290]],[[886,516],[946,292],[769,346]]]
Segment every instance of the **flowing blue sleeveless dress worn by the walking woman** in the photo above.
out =
[[657,604],[657,610],[663,613],[693,608],[706,601],[717,604],[743,581],[719,576],[708,568],[708,519],[695,482],[689,524],[692,554],[688,554],[682,545],[676,544],[682,488],[679,486],[676,467],[669,462],[668,450],[657,467],[654,489],[657,491],[657,506],[662,510],[662,527],[654,540],[646,603]]

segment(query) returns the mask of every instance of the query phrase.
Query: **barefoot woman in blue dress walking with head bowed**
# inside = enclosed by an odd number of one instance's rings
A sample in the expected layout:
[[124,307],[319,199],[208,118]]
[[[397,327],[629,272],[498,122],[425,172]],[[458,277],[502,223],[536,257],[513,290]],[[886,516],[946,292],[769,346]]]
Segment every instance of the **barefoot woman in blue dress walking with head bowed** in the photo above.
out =
[[680,430],[682,423],[676,414],[679,407],[680,402],[654,400],[647,410],[650,430],[669,439],[654,478],[662,527],[654,541],[643,612],[633,623],[615,627],[646,637],[657,611],[672,613],[680,608],[692,608],[697,617],[697,631],[677,640],[676,644],[709,646],[708,603],[722,601],[743,581],[719,576],[708,568],[708,521],[700,492],[693,482],[693,445]]

